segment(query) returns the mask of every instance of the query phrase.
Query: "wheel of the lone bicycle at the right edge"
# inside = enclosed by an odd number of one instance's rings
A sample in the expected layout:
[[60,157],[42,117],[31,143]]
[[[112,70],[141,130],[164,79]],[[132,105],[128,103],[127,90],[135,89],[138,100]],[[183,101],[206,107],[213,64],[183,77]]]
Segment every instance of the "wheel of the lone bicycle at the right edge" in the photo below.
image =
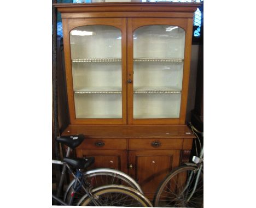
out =
[[158,207],[203,207],[203,173],[192,197],[197,167],[182,166],[174,169],[160,183],[154,197],[154,206]]

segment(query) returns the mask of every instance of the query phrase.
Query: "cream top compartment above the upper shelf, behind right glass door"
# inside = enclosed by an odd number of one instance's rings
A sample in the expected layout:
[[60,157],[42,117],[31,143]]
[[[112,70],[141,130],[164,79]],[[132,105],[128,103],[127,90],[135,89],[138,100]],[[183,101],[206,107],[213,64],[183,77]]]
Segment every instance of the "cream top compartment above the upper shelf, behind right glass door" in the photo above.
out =
[[184,58],[185,31],[177,26],[153,25],[135,30],[134,58]]

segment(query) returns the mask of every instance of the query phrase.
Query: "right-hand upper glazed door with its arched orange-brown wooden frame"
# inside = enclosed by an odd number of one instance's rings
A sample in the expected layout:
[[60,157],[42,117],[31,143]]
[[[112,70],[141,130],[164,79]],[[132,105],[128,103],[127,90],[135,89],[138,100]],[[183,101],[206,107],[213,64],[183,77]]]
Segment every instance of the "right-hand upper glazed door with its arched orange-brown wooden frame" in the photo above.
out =
[[182,124],[192,28],[187,19],[129,19],[129,124]]

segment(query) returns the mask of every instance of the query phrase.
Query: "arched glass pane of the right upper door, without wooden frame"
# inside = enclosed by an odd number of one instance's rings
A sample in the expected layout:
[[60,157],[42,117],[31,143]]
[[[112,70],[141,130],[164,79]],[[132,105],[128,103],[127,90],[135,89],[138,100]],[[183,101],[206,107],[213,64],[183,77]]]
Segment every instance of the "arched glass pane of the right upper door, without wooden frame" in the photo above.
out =
[[133,118],[179,118],[185,31],[139,27],[133,33]]

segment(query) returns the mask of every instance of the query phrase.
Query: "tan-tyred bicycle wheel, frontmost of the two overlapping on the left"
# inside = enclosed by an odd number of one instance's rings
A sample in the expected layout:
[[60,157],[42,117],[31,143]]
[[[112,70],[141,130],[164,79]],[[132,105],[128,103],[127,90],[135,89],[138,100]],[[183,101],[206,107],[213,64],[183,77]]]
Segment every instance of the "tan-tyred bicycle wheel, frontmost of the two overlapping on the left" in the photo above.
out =
[[[91,191],[95,200],[101,206],[150,206],[150,201],[134,188],[121,185],[106,185],[95,188]],[[78,206],[95,206],[88,195],[80,199]]]

